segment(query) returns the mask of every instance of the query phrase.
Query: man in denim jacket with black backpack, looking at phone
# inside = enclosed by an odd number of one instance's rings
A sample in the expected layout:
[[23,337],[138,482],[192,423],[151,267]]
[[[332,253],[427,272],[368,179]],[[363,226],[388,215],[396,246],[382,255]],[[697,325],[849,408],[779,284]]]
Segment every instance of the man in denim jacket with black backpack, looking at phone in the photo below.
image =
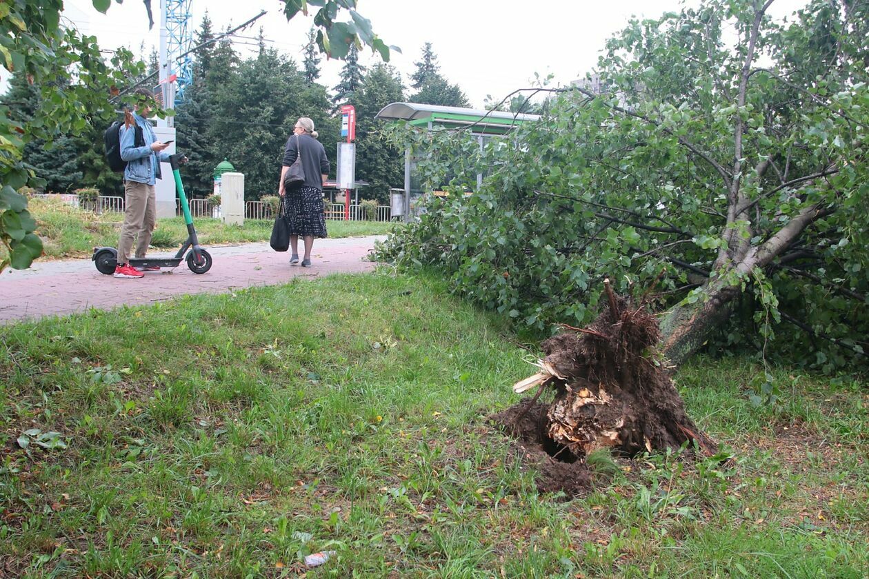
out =
[[[149,89],[136,89],[135,95],[154,99]],[[156,227],[156,190],[157,179],[162,179],[160,162],[169,161],[169,154],[163,149],[170,143],[156,140],[154,129],[148,121],[150,108],[148,105],[135,105],[136,112],[129,109],[123,111],[123,125],[118,134],[121,143],[121,158],[127,161],[123,170],[123,191],[126,196],[127,209],[123,214],[121,240],[117,244],[116,278],[141,278],[143,273],[129,265],[129,252],[136,241],[136,258],[143,258],[148,252],[151,234]],[[141,115],[140,115],[141,113]],[[136,147],[136,133],[141,135]],[[141,144],[144,141],[144,144]],[[158,270],[157,266],[148,269]]]

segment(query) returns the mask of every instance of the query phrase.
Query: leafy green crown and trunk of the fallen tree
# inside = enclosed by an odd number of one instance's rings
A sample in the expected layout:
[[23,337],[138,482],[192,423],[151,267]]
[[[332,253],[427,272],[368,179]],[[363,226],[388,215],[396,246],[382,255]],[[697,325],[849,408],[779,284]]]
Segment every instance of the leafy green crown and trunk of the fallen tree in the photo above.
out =
[[381,254],[541,329],[590,322],[605,278],[651,293],[676,364],[783,333],[806,364],[865,364],[869,3],[771,4],[632,21],[599,83],[550,91],[540,121],[483,148],[473,128],[395,128],[423,188],[475,194],[434,200]]

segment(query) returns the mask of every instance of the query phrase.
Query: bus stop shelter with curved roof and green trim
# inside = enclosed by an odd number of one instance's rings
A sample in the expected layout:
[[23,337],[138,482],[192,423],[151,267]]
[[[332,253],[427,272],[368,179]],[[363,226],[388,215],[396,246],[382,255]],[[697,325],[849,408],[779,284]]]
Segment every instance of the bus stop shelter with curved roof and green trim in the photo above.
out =
[[[511,129],[524,122],[537,121],[540,115],[523,115],[500,110],[464,109],[461,107],[441,107],[433,104],[417,102],[393,102],[383,107],[375,116],[389,121],[404,121],[410,125],[433,130],[434,128],[467,128],[480,144],[495,135],[506,135]],[[477,174],[477,186],[482,182],[483,175]],[[396,191],[393,189],[393,191]],[[401,192],[402,202],[393,205],[393,215],[401,214],[404,220],[416,213],[417,201],[425,191],[421,190],[419,174],[416,171],[416,159],[408,148],[404,152],[404,190]],[[401,206],[395,211],[396,205]]]

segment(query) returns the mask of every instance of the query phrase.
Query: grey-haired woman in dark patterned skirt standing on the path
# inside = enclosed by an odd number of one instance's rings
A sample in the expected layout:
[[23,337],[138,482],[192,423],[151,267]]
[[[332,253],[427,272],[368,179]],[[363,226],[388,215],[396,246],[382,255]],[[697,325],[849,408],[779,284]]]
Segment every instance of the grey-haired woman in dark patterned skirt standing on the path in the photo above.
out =
[[[302,116],[295,122],[293,135],[287,140],[283,153],[283,168],[277,194],[281,196],[283,214],[287,216],[289,246],[293,250],[289,263],[299,263],[299,235],[305,242],[302,267],[311,266],[311,248],[315,237],[326,237],[326,219],[323,215],[323,181],[328,177],[329,164],[326,149],[317,141],[314,122]],[[302,155],[305,181],[287,190],[284,176],[295,158]]]

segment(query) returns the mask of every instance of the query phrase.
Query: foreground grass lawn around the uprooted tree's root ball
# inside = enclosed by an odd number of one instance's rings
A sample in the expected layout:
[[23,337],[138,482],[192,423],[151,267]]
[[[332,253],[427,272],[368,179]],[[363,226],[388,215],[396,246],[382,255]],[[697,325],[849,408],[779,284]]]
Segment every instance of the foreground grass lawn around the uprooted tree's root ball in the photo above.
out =
[[733,460],[602,460],[567,501],[486,421],[526,355],[384,272],[4,327],[0,576],[866,576],[865,383],[773,369],[754,408],[759,367],[696,359]]

